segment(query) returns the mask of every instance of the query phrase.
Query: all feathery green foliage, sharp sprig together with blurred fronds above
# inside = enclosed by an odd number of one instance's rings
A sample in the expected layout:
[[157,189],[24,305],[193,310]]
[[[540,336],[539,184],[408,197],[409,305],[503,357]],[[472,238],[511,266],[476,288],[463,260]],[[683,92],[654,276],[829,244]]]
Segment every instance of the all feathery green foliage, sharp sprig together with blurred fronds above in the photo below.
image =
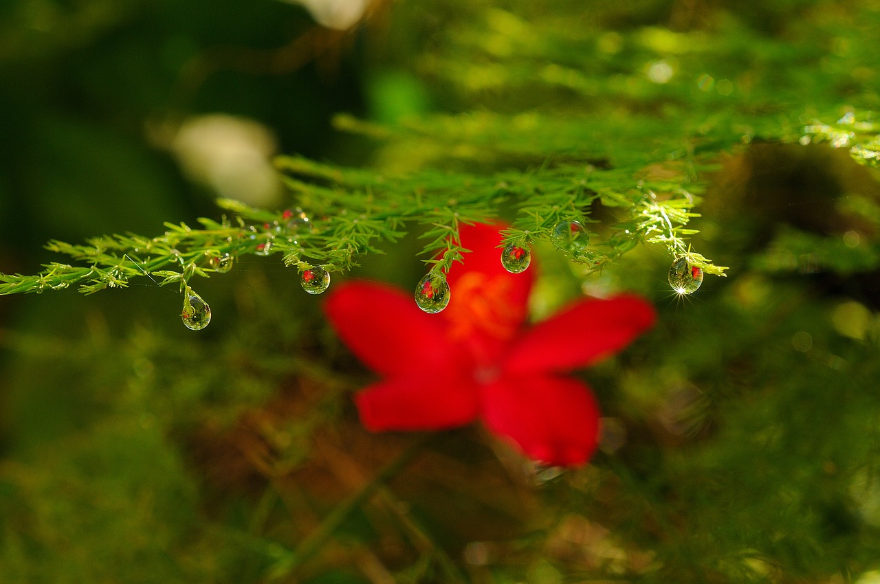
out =
[[[157,270],[163,283],[179,281],[183,287],[192,275],[207,276],[211,259],[226,254],[282,253],[288,266],[348,270],[363,254],[379,252],[380,241],[400,239],[407,223],[427,228],[423,253],[432,259],[426,261],[445,271],[466,252],[457,243],[459,222],[487,221],[505,215],[504,209],[515,215],[505,243],[524,245],[548,237],[561,221],[591,218],[597,199],[614,208],[616,221],[605,224],[605,238],[589,258],[575,258],[589,269],[613,265],[637,243],[664,245],[680,256],[689,252],[683,237],[698,232],[685,227],[700,201],[693,193],[705,187],[719,153],[755,139],[791,140],[798,132],[793,120],[838,106],[814,95],[815,80],[795,83],[813,70],[809,55],[815,49],[805,46],[806,39],[821,35],[836,47],[825,64],[833,78],[823,79],[824,87],[844,84],[843,77],[864,67],[868,55],[855,47],[876,34],[856,28],[835,37],[840,30],[829,24],[833,19],[807,20],[803,30],[793,27],[800,51],[788,41],[756,37],[723,21],[715,36],[659,27],[590,35],[559,26],[568,11],[560,8],[527,19],[477,4],[473,18],[457,22],[444,45],[417,59],[462,97],[488,95],[499,112],[434,115],[404,120],[397,128],[337,118],[339,128],[391,142],[385,150],[393,155],[406,152],[385,165],[410,172],[280,158],[285,184],[312,215],[313,232],[288,229],[278,213],[227,201],[224,207],[237,212],[234,229],[229,222],[202,219],[205,229],[166,225],[169,231],[151,239],[103,237],[86,246],[52,242],[50,250],[88,267],[53,263],[33,277],[4,275],[0,293],[73,283],[91,293]],[[870,5],[854,10],[876,16]],[[845,69],[844,62],[854,69]],[[782,85],[795,93],[778,91],[780,72],[792,79]],[[876,98],[865,91],[867,85],[855,84],[848,95],[861,95],[862,106],[874,105]],[[554,104],[553,113],[541,111],[546,103]],[[880,138],[870,113],[846,113],[832,125],[810,123],[803,132],[802,143],[828,141],[848,147],[860,164],[876,165]],[[473,164],[484,170],[437,171]],[[511,164],[520,170],[485,172]],[[708,274],[722,274],[722,267],[698,253],[689,259]],[[170,274],[170,267],[179,271]]]

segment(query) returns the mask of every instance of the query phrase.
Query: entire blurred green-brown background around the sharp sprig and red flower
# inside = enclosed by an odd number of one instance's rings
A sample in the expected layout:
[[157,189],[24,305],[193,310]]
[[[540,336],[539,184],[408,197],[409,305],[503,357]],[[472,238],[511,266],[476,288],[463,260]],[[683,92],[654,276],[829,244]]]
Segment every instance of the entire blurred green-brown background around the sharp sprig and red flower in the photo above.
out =
[[[731,269],[682,301],[662,252],[583,278],[539,246],[536,312],[615,289],[660,311],[584,374],[617,438],[557,474],[479,429],[435,436],[296,569],[322,518],[416,438],[360,428],[350,393],[370,374],[290,270],[253,259],[200,282],[214,318],[197,335],[149,283],[0,297],[0,582],[880,581],[876,168],[715,134],[745,120],[737,136],[788,140],[810,115],[880,107],[878,11],[6,0],[0,272],[56,259],[49,239],[217,218],[216,196],[295,205],[275,154],[532,172],[647,164],[697,133],[716,157],[695,245]],[[383,145],[336,113],[407,130]],[[533,132],[505,133],[517,113]],[[417,249],[355,275],[411,283]]]

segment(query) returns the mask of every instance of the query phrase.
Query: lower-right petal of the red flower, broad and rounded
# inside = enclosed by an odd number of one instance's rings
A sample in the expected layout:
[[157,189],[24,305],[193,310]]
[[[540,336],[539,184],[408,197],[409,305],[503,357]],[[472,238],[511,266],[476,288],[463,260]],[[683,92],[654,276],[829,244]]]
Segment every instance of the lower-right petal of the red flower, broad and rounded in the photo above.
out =
[[576,379],[518,376],[483,392],[483,419],[533,459],[560,466],[585,463],[598,445],[598,407]]

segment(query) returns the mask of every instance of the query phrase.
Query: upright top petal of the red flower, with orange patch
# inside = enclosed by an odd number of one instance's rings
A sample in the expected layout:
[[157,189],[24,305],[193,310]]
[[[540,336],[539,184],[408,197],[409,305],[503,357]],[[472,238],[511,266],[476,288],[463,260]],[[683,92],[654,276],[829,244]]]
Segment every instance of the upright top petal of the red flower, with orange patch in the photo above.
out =
[[[465,263],[452,266],[447,281],[449,306],[440,315],[450,339],[462,343],[478,364],[495,363],[526,316],[534,266],[510,274],[501,264],[502,225],[476,224],[460,230],[461,245],[471,250]],[[533,264],[534,262],[532,262]]]

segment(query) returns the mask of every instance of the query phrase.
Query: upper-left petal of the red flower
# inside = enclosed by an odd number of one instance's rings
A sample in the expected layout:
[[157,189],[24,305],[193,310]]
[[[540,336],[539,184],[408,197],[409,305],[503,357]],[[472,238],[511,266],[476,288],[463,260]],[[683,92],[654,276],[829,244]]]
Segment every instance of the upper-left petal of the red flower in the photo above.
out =
[[457,369],[458,349],[447,342],[444,322],[416,306],[412,295],[384,284],[343,284],[324,311],[348,348],[384,375]]

